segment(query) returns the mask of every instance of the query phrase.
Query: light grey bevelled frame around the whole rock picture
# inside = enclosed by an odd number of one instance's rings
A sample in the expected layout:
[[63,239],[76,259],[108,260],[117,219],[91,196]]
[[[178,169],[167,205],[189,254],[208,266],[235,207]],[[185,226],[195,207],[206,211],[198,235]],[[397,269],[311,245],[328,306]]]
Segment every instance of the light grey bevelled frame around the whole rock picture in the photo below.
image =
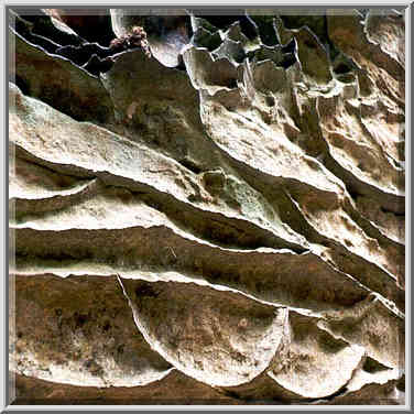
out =
[[[197,2],[197,1],[188,1],[188,0],[182,0],[179,2],[174,0],[153,0],[153,1],[145,1],[145,2],[138,2],[133,0],[123,0],[122,3],[115,3],[113,1],[95,1],[90,2],[88,1],[87,4],[85,4],[81,0],[65,2],[65,1],[42,1],[41,3],[33,3],[28,1],[1,1],[1,22],[4,30],[4,35],[2,36],[2,50],[3,50],[3,63],[8,63],[8,56],[6,56],[8,52],[8,45],[7,45],[7,9],[6,7],[13,7],[13,6],[28,6],[28,7],[76,7],[76,8],[102,8],[102,7],[116,7],[116,8],[132,8],[132,7],[217,7],[217,8],[248,8],[251,6],[251,1],[243,1],[243,0],[227,0],[225,3],[219,0],[211,0],[208,2]],[[39,6],[42,4],[42,6]],[[405,198],[405,214],[406,214],[406,258],[405,258],[405,273],[407,275],[406,277],[406,319],[405,319],[405,328],[406,333],[408,335],[406,336],[406,344],[405,344],[405,350],[406,350],[406,360],[407,362],[407,369],[405,371],[405,382],[406,382],[406,389],[405,389],[405,405],[10,405],[8,401],[8,382],[9,382],[9,374],[8,374],[8,313],[9,313],[9,281],[8,281],[8,272],[9,272],[9,260],[7,258],[7,248],[9,247],[9,238],[8,238],[8,151],[7,151],[7,143],[8,143],[8,118],[7,118],[7,110],[8,110],[8,95],[7,91],[7,85],[8,85],[8,72],[7,66],[2,65],[2,79],[3,83],[1,85],[1,90],[3,95],[2,100],[2,111],[1,111],[1,120],[2,124],[4,126],[4,139],[3,139],[3,145],[1,145],[1,153],[3,155],[3,168],[1,170],[1,189],[2,194],[4,195],[4,203],[1,204],[1,217],[2,217],[2,228],[3,231],[3,249],[1,249],[1,263],[4,263],[4,276],[2,277],[2,292],[3,292],[3,306],[1,307],[1,322],[0,322],[0,333],[1,333],[1,357],[0,357],[0,369],[2,373],[2,384],[0,386],[0,408],[1,413],[6,412],[32,412],[32,411],[41,411],[41,412],[50,412],[50,411],[63,411],[63,412],[89,412],[89,411],[102,411],[102,412],[120,412],[120,411],[405,411],[411,412],[411,374],[412,374],[412,359],[411,359],[411,333],[412,333],[412,320],[411,320],[411,303],[410,298],[412,297],[412,283],[411,283],[411,230],[412,230],[412,220],[411,220],[411,178],[412,178],[412,168],[411,168],[411,160],[412,160],[412,144],[411,144],[411,91],[413,88],[413,85],[411,84],[411,63],[412,63],[412,53],[411,53],[411,23],[413,19],[413,8],[411,2],[406,1],[349,1],[346,4],[338,4],[335,3],[333,6],[333,1],[319,1],[319,2],[313,2],[313,1],[290,1],[290,2],[281,2],[276,3],[276,1],[270,1],[270,0],[261,0],[260,3],[257,3],[253,6],[254,8],[288,8],[288,9],[297,9],[297,8],[315,8],[326,9],[329,8],[338,8],[338,9],[350,9],[355,7],[359,8],[393,8],[393,9],[400,9],[405,8],[405,53],[406,53],[406,70],[405,70],[405,85],[410,86],[406,89],[405,92],[405,102],[406,108],[408,110],[406,111],[406,118],[405,118],[405,154],[406,154],[406,176],[405,176],[405,189],[406,189],[406,198]]]

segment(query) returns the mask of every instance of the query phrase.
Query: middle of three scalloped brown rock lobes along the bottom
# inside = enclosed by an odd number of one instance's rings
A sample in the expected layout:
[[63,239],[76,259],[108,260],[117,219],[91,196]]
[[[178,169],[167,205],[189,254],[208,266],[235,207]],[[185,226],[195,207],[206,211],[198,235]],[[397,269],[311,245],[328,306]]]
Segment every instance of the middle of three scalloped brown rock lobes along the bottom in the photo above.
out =
[[286,308],[193,284],[119,281],[144,338],[179,371],[209,385],[250,382],[283,339]]

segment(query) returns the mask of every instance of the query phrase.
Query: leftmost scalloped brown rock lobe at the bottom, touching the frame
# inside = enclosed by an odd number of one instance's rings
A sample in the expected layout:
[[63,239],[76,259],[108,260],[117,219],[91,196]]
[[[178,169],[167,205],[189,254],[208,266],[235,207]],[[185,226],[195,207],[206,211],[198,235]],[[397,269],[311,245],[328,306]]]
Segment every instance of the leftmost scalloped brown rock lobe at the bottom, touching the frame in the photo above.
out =
[[117,284],[113,276],[15,275],[11,370],[103,388],[146,385],[167,375],[173,367],[137,331]]

